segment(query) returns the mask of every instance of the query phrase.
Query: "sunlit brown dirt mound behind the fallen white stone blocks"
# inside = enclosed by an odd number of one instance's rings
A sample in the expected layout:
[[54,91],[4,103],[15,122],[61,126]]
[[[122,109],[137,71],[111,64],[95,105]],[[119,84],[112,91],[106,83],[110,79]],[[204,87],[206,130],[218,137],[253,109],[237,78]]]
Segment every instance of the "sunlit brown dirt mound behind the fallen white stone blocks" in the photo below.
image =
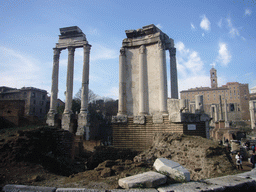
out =
[[189,170],[192,180],[232,174],[235,169],[224,147],[199,136],[158,133],[151,148],[136,156],[134,161],[153,164],[159,157],[181,164]]

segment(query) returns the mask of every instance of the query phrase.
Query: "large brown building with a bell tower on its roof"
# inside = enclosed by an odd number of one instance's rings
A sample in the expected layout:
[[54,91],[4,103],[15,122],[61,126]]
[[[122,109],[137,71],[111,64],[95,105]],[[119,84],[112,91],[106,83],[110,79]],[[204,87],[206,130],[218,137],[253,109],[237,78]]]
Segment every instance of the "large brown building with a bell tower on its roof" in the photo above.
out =
[[211,87],[196,87],[180,92],[181,99],[190,103],[190,111],[193,111],[195,95],[203,95],[203,106],[206,114],[213,118],[213,122],[224,120],[224,103],[227,101],[228,121],[250,120],[248,84],[229,82],[218,87],[217,70],[210,70]]

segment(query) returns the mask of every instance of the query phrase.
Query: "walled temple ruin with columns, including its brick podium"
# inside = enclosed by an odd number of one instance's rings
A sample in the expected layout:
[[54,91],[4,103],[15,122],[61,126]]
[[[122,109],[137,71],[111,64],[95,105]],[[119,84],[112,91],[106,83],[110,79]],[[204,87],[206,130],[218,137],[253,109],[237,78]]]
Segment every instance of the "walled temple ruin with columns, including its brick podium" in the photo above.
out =
[[[126,30],[119,57],[119,105],[112,117],[115,147],[145,149],[156,132],[182,132],[209,138],[209,116],[203,96],[195,113],[178,99],[174,40],[155,25]],[[171,98],[168,98],[166,50],[170,54]]]

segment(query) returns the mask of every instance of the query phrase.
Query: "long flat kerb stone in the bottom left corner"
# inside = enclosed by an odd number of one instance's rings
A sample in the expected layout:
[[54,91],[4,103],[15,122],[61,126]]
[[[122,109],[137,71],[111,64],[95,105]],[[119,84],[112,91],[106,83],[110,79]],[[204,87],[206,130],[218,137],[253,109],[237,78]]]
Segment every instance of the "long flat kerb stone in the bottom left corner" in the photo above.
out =
[[39,186],[28,186],[28,185],[12,185],[8,184],[5,185],[3,188],[5,192],[19,192],[19,191],[26,191],[26,192],[54,192],[56,191],[55,187],[39,187]]

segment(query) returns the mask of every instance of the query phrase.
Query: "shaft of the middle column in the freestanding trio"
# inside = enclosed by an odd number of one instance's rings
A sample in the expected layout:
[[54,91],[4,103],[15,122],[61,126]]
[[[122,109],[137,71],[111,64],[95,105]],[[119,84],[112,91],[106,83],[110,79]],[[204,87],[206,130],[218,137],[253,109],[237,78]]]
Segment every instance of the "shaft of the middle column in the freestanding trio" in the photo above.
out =
[[74,76],[74,54],[75,48],[68,47],[68,67],[67,67],[67,84],[66,84],[66,102],[64,113],[72,113],[72,97],[73,97],[73,76]]

